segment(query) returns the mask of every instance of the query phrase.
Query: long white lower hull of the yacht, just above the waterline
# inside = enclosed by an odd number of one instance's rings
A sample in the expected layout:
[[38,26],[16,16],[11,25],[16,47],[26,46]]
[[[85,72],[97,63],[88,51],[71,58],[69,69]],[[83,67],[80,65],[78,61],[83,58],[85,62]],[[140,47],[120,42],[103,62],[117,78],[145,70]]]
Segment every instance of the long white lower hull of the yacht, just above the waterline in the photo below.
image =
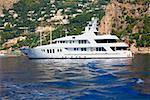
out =
[[29,59],[104,59],[104,58],[132,58],[131,51],[114,51],[114,52],[73,52],[65,51],[61,53],[47,53],[38,49],[21,50]]

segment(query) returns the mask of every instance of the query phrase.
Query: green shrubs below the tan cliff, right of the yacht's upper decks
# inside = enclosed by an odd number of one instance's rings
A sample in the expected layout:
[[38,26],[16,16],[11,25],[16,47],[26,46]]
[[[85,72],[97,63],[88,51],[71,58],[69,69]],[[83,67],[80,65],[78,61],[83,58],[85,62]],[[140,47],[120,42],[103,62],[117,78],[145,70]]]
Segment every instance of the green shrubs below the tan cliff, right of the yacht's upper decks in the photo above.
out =
[[133,18],[133,17],[126,17],[126,22],[128,23],[128,26],[126,29],[121,31],[115,31],[113,30],[113,33],[116,33],[116,35],[120,38],[123,38],[125,36],[129,36],[130,43],[133,43],[133,40],[136,40],[136,46],[137,47],[148,47],[150,46],[150,17],[145,16],[144,19],[142,19],[144,22],[144,27],[141,28],[139,33],[132,33],[133,27],[137,25],[141,19]]

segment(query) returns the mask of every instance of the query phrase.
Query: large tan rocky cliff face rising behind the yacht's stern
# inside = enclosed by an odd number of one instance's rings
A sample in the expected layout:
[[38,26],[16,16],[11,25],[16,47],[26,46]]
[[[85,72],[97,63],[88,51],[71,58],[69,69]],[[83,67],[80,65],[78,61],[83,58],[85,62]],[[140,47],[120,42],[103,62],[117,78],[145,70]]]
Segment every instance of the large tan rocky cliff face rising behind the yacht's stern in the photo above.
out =
[[[100,32],[110,34],[113,31],[125,30],[132,24],[132,33],[137,33],[144,26],[143,18],[150,16],[150,5],[142,2],[131,3],[131,0],[112,0],[106,7],[105,16],[101,20]],[[133,1],[133,0],[132,0]],[[135,23],[128,20],[138,19]]]

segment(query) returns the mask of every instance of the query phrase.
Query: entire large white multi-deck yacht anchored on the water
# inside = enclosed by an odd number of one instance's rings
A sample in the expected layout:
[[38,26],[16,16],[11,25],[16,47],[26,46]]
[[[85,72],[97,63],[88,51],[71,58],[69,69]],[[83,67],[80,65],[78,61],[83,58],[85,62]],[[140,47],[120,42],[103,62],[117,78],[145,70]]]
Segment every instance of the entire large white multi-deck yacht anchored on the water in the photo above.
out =
[[21,51],[33,59],[133,57],[132,52],[128,50],[128,44],[119,42],[119,38],[115,35],[98,34],[97,25],[97,19],[92,18],[81,35],[57,38],[51,44],[21,48]]

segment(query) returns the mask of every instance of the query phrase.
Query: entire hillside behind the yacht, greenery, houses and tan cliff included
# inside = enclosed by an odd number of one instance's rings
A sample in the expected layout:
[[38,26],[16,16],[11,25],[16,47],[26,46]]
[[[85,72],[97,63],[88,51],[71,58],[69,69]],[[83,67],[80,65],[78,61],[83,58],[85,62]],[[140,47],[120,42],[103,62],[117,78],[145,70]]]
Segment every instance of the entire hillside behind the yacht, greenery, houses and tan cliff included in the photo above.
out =
[[[18,2],[14,0],[12,2],[7,1],[9,6],[6,1],[1,4],[6,4],[7,8],[0,17],[1,49],[37,46],[39,29],[44,33],[43,43],[48,44],[51,26],[53,39],[66,34],[80,34],[93,16],[100,19],[101,34],[116,34],[121,39],[135,43],[136,46],[150,46],[149,0],[20,0]],[[25,39],[20,41],[19,37],[22,36]],[[11,43],[13,39],[15,42]]]

